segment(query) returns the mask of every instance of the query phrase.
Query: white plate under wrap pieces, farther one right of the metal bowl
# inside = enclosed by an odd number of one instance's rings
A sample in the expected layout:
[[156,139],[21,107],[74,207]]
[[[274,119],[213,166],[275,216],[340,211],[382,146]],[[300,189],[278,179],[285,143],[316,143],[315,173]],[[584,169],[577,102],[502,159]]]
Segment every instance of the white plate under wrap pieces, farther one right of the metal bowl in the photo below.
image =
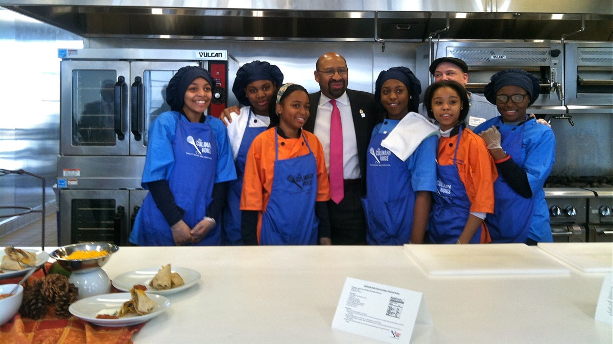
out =
[[121,291],[129,291],[134,285],[144,285],[147,286],[147,293],[167,295],[186,290],[192,285],[198,283],[200,280],[200,272],[197,272],[196,270],[179,266],[171,267],[171,271],[179,274],[184,283],[178,286],[173,286],[169,289],[157,289],[151,286],[150,282],[160,270],[161,268],[159,266],[155,266],[126,272],[113,279],[113,286]]

